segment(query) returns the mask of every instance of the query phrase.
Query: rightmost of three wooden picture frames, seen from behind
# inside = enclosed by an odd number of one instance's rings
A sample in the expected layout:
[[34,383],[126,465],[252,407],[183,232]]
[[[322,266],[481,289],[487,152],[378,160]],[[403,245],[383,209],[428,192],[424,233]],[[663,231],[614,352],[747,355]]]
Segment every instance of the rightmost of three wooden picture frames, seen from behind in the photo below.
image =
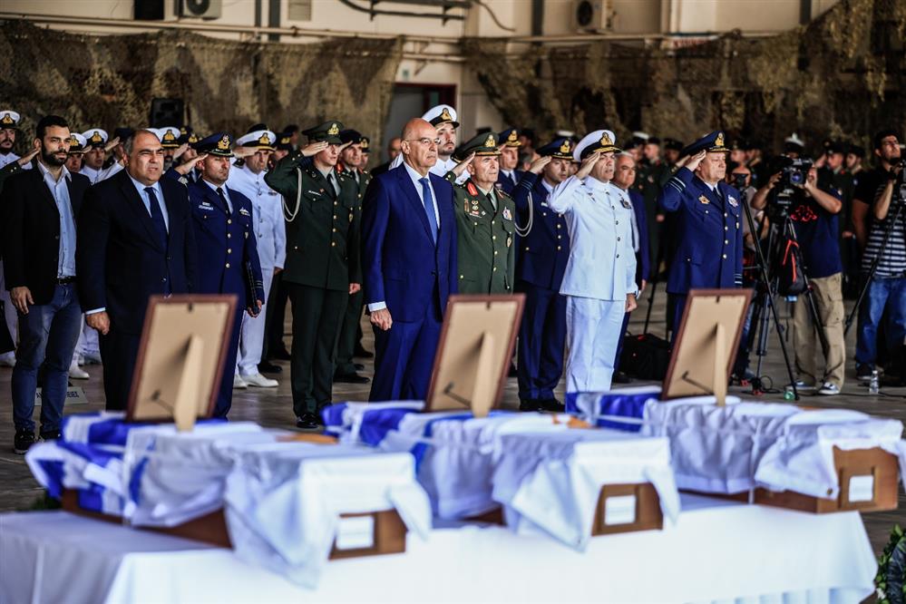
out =
[[726,402],[751,289],[692,289],[679,323],[661,399],[715,395]]

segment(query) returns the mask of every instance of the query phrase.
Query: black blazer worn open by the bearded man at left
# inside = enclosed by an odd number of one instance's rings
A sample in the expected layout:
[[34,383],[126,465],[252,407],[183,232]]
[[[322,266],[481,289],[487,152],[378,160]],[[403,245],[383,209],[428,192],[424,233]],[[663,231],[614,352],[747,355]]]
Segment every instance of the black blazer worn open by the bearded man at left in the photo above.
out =
[[[91,182],[81,174],[70,176],[67,187],[77,225]],[[60,212],[42,171],[22,170],[6,179],[0,208],[6,288],[28,287],[35,305],[50,303],[60,261]]]

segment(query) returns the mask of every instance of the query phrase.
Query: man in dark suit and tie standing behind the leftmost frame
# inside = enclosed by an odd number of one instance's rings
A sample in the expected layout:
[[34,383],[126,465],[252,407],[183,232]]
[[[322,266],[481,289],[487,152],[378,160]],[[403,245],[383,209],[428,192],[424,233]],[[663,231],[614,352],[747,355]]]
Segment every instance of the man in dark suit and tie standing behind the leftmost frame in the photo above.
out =
[[101,334],[107,409],[126,408],[148,298],[194,291],[196,248],[189,195],[161,180],[157,134],[136,131],[126,168],[85,195],[76,268],[85,321]]

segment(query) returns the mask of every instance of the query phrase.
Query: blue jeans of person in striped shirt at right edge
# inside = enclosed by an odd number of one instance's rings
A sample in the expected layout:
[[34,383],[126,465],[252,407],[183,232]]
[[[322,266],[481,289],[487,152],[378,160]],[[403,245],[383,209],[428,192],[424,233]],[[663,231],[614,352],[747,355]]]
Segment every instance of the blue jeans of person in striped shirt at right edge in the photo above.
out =
[[887,308],[886,340],[888,350],[899,350],[906,336],[906,278],[875,277],[868,286],[859,308],[859,337],[856,363],[874,365],[878,358],[878,326]]

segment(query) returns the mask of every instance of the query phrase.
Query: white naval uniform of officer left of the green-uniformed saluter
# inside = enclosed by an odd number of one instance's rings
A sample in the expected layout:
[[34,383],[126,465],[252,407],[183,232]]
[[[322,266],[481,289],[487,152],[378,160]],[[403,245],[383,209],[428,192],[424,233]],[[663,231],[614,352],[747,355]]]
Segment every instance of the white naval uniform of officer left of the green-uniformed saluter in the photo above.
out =
[[[252,202],[252,225],[258,245],[258,260],[264,278],[264,293],[268,295],[274,280],[274,269],[283,268],[287,258],[287,228],[283,220],[283,198],[268,187],[264,181],[266,170],[255,174],[248,166],[233,166],[229,170],[227,186],[238,190]],[[268,300],[264,300],[267,304]],[[242,331],[239,335],[239,355],[236,373],[239,375],[258,374],[258,363],[264,347],[265,313],[258,317],[242,315]]]

